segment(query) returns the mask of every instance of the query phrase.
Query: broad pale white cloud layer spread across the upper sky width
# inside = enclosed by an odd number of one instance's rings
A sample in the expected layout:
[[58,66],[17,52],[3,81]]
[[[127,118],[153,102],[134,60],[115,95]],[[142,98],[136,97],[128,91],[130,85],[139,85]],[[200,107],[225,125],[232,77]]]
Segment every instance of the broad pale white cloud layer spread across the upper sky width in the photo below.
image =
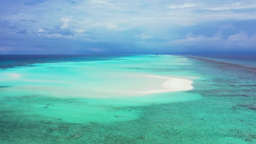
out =
[[[255,6],[256,2],[251,1],[116,1],[116,0],[89,0],[89,1],[78,1],[76,4],[70,3],[57,3],[55,1],[45,2],[45,7],[31,6],[26,9],[13,10],[9,9],[10,13],[2,15],[2,19],[5,21],[10,21],[14,23],[24,17],[24,19],[33,19],[37,23],[21,23],[22,27],[27,29],[27,32],[32,31],[37,37],[39,34],[42,37],[52,37],[52,38],[63,38],[60,29],[65,29],[70,32],[75,32],[73,36],[77,39],[90,40],[90,38],[98,41],[110,41],[114,38],[106,38],[102,35],[111,35],[112,33],[117,33],[114,31],[109,31],[109,29],[115,31],[124,31],[123,38],[135,38],[137,39],[150,39],[151,35],[153,38],[161,38],[170,36],[168,33],[172,33],[174,29],[174,34],[180,33],[181,28],[188,28],[191,25],[196,25],[197,23],[203,22],[216,22],[216,23],[226,23],[226,21],[242,21],[242,20],[255,20],[255,11],[248,10],[230,10],[230,11],[203,11],[204,9],[232,9],[232,8],[252,8]],[[170,3],[172,2],[172,3]],[[56,4],[58,4],[61,9],[56,9]],[[114,7],[110,6],[114,5]],[[168,9],[167,8],[172,9]],[[192,8],[193,10],[191,10]],[[24,11],[23,13],[18,13]],[[15,13],[16,12],[16,13]],[[68,14],[68,15],[63,15]],[[42,15],[38,17],[38,15]],[[62,17],[62,18],[61,18]],[[49,21],[50,20],[50,21]],[[249,22],[249,21],[248,21]],[[18,22],[17,22],[18,23]],[[38,29],[38,25],[43,26]],[[201,25],[201,24],[200,24]],[[207,25],[207,24],[206,24]],[[56,26],[58,26],[57,29]],[[185,27],[183,27],[185,26]],[[234,23],[236,26],[236,23]],[[232,25],[223,25],[222,29],[234,29]],[[45,28],[45,29],[43,29]],[[177,28],[177,29],[176,29]],[[193,28],[193,27],[192,27]],[[2,28],[3,29],[3,28]],[[2,30],[1,29],[1,30]],[[7,29],[7,28],[5,28]],[[4,29],[4,30],[5,30]],[[7,31],[7,30],[5,30]],[[48,31],[48,32],[44,32]],[[68,32],[67,31],[67,32]],[[94,33],[93,35],[84,32]],[[201,32],[198,29],[194,31]],[[235,29],[234,29],[235,31]],[[10,33],[11,31],[5,32]],[[36,33],[37,32],[37,33]],[[145,34],[142,34],[144,32]],[[51,33],[51,34],[50,34]],[[53,34],[55,33],[55,34]],[[60,34],[57,34],[60,33]],[[84,35],[82,35],[84,33]],[[48,35],[45,35],[48,34]],[[225,35],[227,36],[227,35]],[[230,41],[234,41],[237,35],[231,37]],[[177,39],[170,38],[170,39]],[[167,41],[169,41],[168,39]],[[176,42],[185,41],[214,41],[219,38],[214,35],[205,35],[202,32],[201,35],[183,35],[179,36]],[[115,39],[114,39],[115,40]],[[94,41],[94,40],[91,40]],[[155,42],[158,43],[158,42]]]

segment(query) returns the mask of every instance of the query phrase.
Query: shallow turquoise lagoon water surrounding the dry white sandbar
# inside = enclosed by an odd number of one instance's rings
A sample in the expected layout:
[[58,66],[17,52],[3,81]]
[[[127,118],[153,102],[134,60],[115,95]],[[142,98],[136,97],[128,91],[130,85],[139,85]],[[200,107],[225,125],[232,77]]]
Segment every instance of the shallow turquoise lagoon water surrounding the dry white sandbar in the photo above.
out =
[[[167,55],[1,64],[0,143],[255,142],[253,69]],[[148,75],[192,80],[194,89],[137,93],[161,88]]]

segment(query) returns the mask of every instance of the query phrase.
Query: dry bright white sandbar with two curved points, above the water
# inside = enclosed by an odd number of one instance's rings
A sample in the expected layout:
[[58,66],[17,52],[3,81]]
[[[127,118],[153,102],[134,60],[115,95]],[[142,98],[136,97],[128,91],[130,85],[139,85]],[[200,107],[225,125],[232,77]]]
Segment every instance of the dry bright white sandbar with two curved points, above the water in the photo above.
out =
[[178,91],[189,91],[194,88],[192,86],[193,81],[191,80],[164,77],[164,76],[152,76],[152,75],[149,75],[148,77],[166,79],[166,81],[162,83],[162,89],[152,89],[150,91],[139,91],[138,93],[150,94],[150,93],[178,92]]

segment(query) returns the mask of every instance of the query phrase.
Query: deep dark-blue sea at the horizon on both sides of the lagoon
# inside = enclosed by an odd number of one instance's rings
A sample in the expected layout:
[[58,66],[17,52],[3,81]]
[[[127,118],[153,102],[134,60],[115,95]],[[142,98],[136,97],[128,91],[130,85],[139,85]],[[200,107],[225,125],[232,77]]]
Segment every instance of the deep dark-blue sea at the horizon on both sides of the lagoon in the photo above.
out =
[[[10,68],[49,62],[103,61],[115,57],[132,56],[136,55],[0,55],[0,67]],[[193,57],[256,68],[256,55],[193,55]]]

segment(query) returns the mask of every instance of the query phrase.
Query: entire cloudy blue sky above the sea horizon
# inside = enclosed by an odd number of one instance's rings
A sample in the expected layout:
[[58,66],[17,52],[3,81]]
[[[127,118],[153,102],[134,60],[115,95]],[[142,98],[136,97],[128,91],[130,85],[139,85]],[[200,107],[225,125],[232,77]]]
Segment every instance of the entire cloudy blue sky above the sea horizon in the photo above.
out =
[[0,54],[256,53],[255,0],[0,3]]

